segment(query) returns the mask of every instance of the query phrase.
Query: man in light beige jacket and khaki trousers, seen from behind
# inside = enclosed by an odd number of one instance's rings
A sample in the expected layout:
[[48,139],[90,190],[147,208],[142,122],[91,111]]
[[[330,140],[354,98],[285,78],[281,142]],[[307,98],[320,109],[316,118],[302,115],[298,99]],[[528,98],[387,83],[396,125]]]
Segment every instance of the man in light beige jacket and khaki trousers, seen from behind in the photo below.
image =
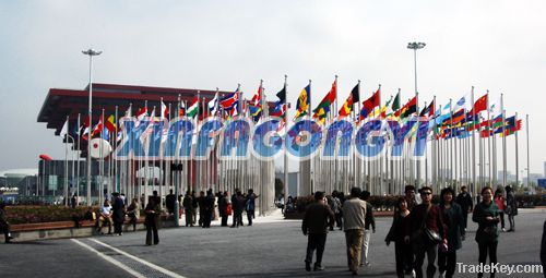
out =
[[364,241],[366,202],[359,198],[360,192],[358,188],[351,189],[349,198],[343,203],[347,265],[353,275],[358,275]]

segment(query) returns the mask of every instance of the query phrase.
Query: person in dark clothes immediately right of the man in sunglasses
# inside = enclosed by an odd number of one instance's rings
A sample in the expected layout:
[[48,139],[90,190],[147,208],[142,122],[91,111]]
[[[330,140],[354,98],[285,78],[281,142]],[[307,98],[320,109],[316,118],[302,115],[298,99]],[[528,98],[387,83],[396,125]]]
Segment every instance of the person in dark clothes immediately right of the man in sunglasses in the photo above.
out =
[[440,211],[448,231],[448,250],[439,245],[438,249],[438,270],[440,278],[451,278],[455,273],[456,251],[462,247],[463,211],[461,206],[453,202],[455,192],[451,188],[440,192]]

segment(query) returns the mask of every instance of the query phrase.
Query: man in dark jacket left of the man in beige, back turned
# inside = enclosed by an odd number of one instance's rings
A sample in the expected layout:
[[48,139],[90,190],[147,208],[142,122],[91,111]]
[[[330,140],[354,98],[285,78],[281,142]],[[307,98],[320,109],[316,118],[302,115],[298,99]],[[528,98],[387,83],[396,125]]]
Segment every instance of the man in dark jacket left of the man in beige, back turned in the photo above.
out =
[[317,261],[314,262],[314,270],[323,270],[322,254],[327,243],[328,227],[334,222],[334,213],[328,206],[323,192],[314,193],[314,203],[307,207],[304,221],[301,222],[301,231],[304,235],[308,235],[307,240],[307,256],[306,270],[311,270],[312,253],[317,250]]

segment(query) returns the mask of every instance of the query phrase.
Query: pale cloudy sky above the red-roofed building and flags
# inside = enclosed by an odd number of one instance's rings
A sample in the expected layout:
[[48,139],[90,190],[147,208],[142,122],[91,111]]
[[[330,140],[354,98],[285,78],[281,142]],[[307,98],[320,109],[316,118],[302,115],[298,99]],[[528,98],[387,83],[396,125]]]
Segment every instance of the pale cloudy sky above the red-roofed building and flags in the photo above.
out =
[[[94,82],[233,90],[250,98],[264,81],[274,98],[288,75],[295,104],[312,80],[316,106],[339,75],[340,106],[361,80],[361,98],[414,92],[419,102],[459,99],[475,87],[505,97],[507,114],[530,116],[531,172],[544,172],[546,2],[530,1],[2,1],[0,170],[64,158],[37,123],[49,88],[82,89],[95,48]],[[524,124],[525,125],[525,124]],[[514,172],[514,142],[508,140]],[[526,168],[520,133],[520,170]],[[510,147],[511,146],[511,147]],[[499,168],[500,169],[500,168]]]

